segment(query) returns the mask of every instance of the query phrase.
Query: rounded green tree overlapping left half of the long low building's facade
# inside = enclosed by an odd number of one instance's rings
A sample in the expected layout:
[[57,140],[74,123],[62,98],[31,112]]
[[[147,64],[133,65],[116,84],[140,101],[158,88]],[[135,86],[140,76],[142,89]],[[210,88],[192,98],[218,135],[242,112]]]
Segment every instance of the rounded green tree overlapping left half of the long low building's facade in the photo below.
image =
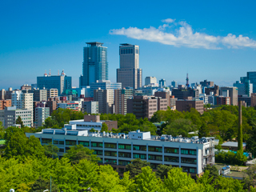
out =
[[99,162],[101,160],[94,154],[94,150],[90,150],[82,145],[71,146],[70,150],[64,154],[64,157],[70,159],[72,164],[78,163],[81,159],[87,159],[92,162]]

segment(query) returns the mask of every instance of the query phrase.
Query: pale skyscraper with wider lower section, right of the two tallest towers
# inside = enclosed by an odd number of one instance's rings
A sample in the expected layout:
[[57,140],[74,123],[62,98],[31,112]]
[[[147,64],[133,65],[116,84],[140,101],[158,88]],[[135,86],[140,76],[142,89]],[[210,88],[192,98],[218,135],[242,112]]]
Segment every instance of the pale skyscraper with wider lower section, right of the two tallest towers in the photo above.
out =
[[117,82],[122,88],[142,87],[142,69],[139,69],[139,46],[128,43],[119,46],[120,68],[117,70]]

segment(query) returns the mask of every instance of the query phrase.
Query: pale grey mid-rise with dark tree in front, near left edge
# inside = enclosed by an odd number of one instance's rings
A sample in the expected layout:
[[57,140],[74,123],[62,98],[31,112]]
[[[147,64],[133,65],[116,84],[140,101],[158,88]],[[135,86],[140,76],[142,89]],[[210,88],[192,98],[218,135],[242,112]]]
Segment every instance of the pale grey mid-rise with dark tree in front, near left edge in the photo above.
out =
[[32,110],[17,110],[16,106],[10,106],[5,108],[5,128],[16,124],[18,116],[22,118],[24,126],[31,127],[33,122]]

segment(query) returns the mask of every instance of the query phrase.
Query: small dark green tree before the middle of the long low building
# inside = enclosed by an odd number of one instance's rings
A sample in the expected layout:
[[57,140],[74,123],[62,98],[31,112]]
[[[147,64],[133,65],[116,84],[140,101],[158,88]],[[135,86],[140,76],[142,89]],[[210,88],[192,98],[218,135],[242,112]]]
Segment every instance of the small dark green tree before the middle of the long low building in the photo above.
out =
[[126,170],[130,171],[130,178],[142,173],[142,167],[150,166],[150,162],[142,161],[140,158],[135,158],[126,166]]

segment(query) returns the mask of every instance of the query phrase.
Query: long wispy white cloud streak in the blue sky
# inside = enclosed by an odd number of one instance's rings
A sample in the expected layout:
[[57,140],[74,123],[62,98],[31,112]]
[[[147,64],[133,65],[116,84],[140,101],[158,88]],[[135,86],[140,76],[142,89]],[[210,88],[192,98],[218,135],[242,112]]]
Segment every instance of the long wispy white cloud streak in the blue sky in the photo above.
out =
[[[167,18],[162,20],[167,24],[150,26],[150,28],[139,29],[138,27],[129,27],[110,30],[110,34],[125,35],[128,38],[147,40],[150,42],[160,42],[171,46],[186,46],[191,48],[221,49],[222,46],[228,48],[250,47],[256,48],[256,41],[248,37],[234,34],[228,34],[226,37],[214,36],[205,33],[194,32],[192,27],[186,22],[175,22],[175,19]],[[166,32],[166,28],[178,26],[173,32]]]

